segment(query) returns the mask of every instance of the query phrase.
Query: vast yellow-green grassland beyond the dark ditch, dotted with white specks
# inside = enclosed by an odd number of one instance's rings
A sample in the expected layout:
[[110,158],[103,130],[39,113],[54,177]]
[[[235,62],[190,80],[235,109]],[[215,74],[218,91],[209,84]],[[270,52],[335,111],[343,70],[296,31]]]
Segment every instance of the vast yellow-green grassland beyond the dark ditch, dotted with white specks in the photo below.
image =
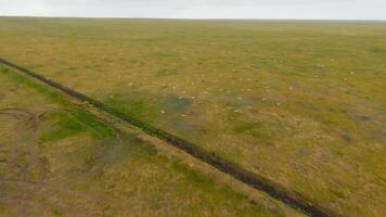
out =
[[0,44],[327,210],[386,214],[385,23],[3,17]]

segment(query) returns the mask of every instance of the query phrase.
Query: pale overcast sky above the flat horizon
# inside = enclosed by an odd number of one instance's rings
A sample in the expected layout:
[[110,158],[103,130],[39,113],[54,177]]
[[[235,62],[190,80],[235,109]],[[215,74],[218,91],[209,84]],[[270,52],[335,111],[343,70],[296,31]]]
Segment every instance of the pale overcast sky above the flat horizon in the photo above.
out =
[[386,20],[386,0],[0,0],[0,16]]

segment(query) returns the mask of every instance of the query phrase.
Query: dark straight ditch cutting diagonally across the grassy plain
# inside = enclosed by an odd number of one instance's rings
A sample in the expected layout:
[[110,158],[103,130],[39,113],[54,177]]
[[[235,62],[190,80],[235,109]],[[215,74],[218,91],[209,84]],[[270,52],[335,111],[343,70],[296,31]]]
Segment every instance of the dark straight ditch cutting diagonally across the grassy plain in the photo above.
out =
[[39,74],[36,74],[29,69],[26,69],[22,66],[15,65],[9,61],[5,61],[0,58],[0,64],[7,65],[9,67],[15,68],[30,77],[34,77],[35,79],[38,79],[55,89],[59,89],[63,91],[64,93],[76,98],[82,102],[88,102],[89,104],[93,105],[94,107],[106,112],[125,123],[128,123],[130,125],[133,125],[147,135],[151,135],[153,137],[156,137],[158,139],[162,139],[169,144],[184,151],[185,153],[194,156],[195,158],[198,158],[210,166],[221,170],[222,173],[226,173],[228,175],[231,175],[232,177],[236,178],[237,180],[250,186],[254,189],[257,189],[259,191],[266,192],[270,196],[282,201],[286,205],[303,210],[305,214],[308,214],[309,216],[314,216],[314,217],[324,217],[324,216],[337,216],[336,214],[333,214],[331,210],[326,210],[323,207],[319,206],[316,203],[312,203],[308,200],[306,200],[304,196],[301,196],[299,193],[290,191],[285,189],[284,187],[272,182],[271,180],[268,180],[265,177],[258,176],[256,174],[253,174],[250,171],[247,171],[246,169],[242,168],[239,165],[235,165],[231,162],[228,162],[219,156],[217,156],[215,153],[209,153],[202,148],[200,148],[196,144],[193,144],[189,141],[185,141],[181,138],[178,138],[169,132],[166,132],[162,129],[158,129],[156,127],[153,127],[146,123],[143,123],[141,120],[138,120],[136,118],[129,117],[110,106],[106,106],[100,101],[97,101],[92,98],[89,98],[80,92],[77,92],[75,90],[72,90],[67,87],[64,87],[49,78],[46,78]]

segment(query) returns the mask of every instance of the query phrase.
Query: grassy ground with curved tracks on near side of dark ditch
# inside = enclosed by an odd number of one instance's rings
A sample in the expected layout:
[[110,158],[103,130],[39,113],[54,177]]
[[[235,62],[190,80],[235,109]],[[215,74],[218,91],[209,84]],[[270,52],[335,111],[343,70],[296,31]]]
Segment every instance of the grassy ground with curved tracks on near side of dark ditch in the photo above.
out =
[[0,67],[0,216],[301,216]]

